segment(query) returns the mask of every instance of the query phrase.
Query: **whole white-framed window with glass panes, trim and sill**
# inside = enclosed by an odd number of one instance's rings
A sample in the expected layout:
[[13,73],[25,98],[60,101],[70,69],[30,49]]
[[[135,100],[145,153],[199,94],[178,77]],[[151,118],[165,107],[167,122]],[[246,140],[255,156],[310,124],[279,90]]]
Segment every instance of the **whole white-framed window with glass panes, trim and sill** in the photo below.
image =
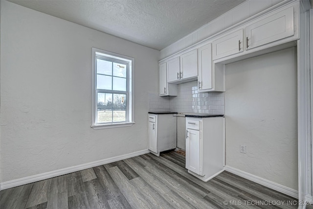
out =
[[133,74],[133,58],[92,48],[92,128],[134,124]]

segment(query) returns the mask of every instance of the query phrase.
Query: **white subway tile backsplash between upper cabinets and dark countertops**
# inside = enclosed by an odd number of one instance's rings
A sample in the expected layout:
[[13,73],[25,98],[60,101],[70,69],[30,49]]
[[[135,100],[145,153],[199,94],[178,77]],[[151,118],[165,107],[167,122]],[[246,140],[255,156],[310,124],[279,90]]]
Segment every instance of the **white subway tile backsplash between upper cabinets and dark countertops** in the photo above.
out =
[[178,85],[178,96],[149,94],[149,111],[224,114],[224,93],[198,93],[197,81]]

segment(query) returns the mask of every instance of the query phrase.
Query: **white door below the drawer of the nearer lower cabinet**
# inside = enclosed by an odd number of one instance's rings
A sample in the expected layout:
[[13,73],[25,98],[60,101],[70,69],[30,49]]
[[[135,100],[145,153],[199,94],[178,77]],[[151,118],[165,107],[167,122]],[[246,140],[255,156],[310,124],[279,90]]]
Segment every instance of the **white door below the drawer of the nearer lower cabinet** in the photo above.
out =
[[201,167],[201,141],[197,130],[186,131],[186,168],[194,173],[202,175]]

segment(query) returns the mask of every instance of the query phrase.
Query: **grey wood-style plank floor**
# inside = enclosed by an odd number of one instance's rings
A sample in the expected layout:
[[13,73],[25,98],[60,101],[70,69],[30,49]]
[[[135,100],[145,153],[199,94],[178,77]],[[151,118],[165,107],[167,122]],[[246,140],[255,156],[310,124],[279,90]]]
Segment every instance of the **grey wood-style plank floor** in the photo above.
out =
[[[295,209],[297,200],[228,172],[208,182],[174,151],[0,191],[0,209]],[[285,202],[284,202],[285,201]]]

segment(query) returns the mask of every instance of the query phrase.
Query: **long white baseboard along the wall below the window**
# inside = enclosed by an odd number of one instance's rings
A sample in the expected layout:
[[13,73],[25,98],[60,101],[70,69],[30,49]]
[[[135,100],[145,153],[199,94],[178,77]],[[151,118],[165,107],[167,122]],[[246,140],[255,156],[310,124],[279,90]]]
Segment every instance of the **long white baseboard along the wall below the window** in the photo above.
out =
[[15,186],[26,185],[26,184],[29,184],[29,183],[42,181],[42,180],[45,180],[45,179],[49,179],[49,178],[53,178],[53,177],[56,177],[56,176],[65,175],[65,174],[68,174],[68,173],[72,173],[72,172],[88,169],[88,168],[91,168],[91,167],[95,167],[95,166],[99,166],[99,165],[103,165],[103,164],[107,164],[107,163],[113,163],[113,162],[116,162],[116,161],[121,161],[121,160],[124,160],[124,159],[127,159],[127,158],[132,158],[132,157],[143,155],[143,154],[147,154],[147,153],[150,153],[150,150],[145,149],[145,150],[141,150],[141,151],[133,152],[133,153],[130,153],[130,154],[125,154],[125,155],[120,155],[120,156],[116,156],[116,157],[112,157],[112,158],[108,158],[108,159],[104,159],[104,160],[100,160],[100,161],[94,161],[94,162],[91,162],[91,163],[75,165],[75,166],[71,166],[71,167],[68,167],[68,168],[63,168],[63,169],[60,169],[60,170],[50,171],[50,172],[46,172],[46,173],[42,173],[42,174],[37,174],[37,175],[34,175],[34,176],[29,176],[29,177],[25,177],[25,178],[21,178],[21,179],[7,181],[7,182],[1,183],[0,184],[0,188],[3,190],[3,189],[7,189],[7,188],[12,188],[12,187],[15,187]]

